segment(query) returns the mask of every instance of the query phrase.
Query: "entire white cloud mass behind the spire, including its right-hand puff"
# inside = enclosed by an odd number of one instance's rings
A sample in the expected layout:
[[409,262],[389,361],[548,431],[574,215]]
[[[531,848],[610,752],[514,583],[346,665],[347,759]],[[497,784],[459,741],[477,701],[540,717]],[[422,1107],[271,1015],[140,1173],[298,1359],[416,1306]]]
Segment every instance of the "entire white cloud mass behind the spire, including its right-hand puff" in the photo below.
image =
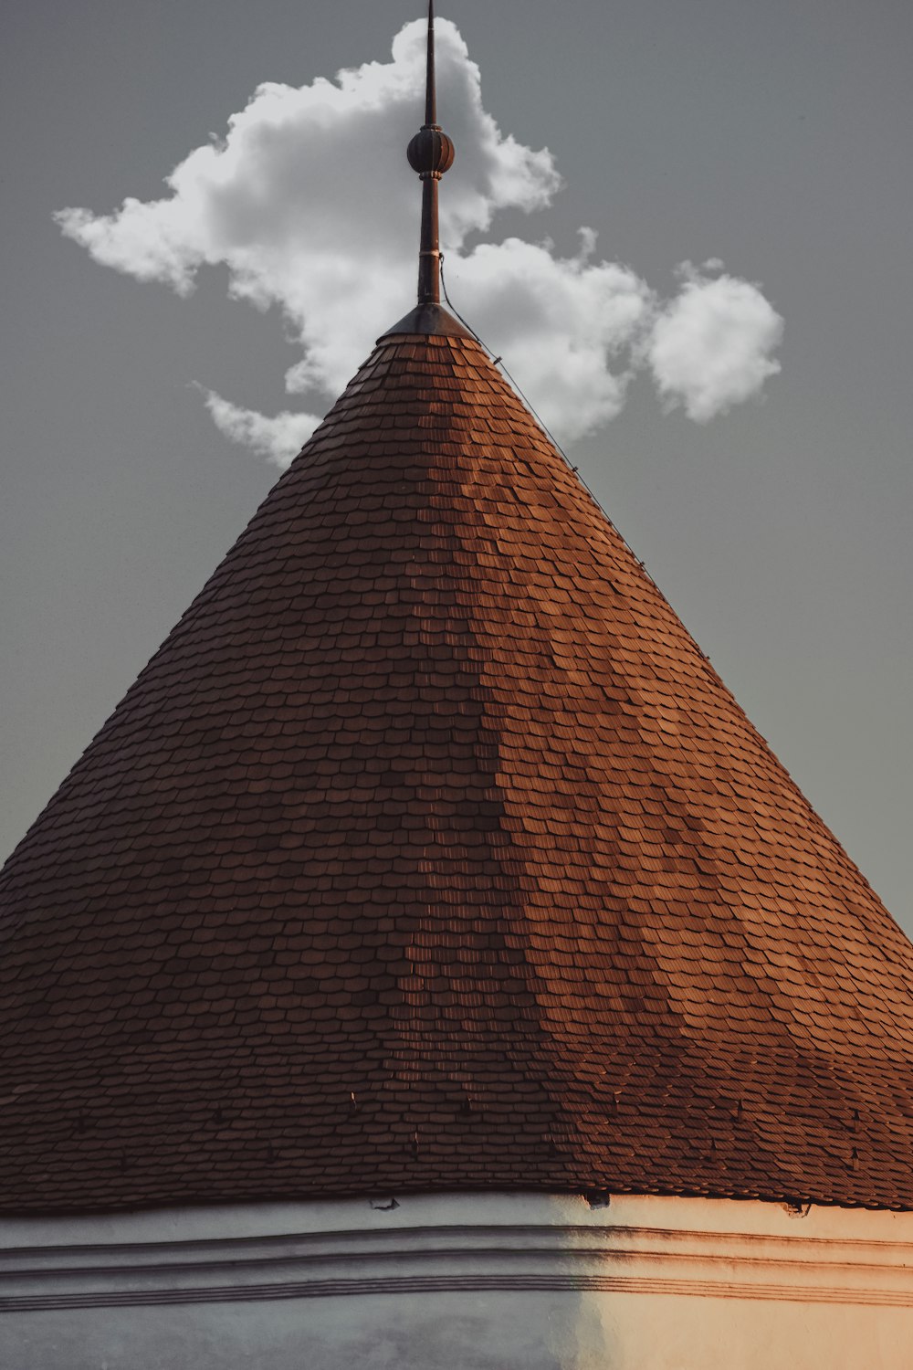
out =
[[[569,258],[549,241],[491,238],[500,210],[541,211],[561,179],[548,148],[505,136],[485,110],[479,68],[446,19],[437,53],[457,147],[441,197],[448,282],[554,433],[568,441],[612,419],[638,369],[701,422],[757,393],[777,370],[780,321],[756,286],[693,274],[663,301],[631,269],[598,260],[589,229]],[[419,184],[404,149],[423,81],[417,21],[396,36],[390,62],[298,89],[259,86],[223,140],[175,167],[162,199],[126,199],[107,215],[62,210],[57,223],[97,262],[182,296],[203,269],[227,266],[233,297],[281,308],[301,347],[286,388],[319,408],[415,297]],[[204,393],[222,432],[279,464],[316,422]]]

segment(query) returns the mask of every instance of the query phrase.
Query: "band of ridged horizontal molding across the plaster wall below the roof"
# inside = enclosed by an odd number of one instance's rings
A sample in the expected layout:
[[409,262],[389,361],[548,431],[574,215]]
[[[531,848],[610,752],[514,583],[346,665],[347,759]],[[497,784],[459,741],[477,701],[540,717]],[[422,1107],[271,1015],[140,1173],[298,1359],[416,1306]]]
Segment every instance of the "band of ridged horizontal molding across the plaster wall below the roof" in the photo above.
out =
[[604,1223],[391,1223],[7,1248],[0,1251],[0,1312],[486,1291],[913,1307],[912,1269],[913,1243],[871,1238]]

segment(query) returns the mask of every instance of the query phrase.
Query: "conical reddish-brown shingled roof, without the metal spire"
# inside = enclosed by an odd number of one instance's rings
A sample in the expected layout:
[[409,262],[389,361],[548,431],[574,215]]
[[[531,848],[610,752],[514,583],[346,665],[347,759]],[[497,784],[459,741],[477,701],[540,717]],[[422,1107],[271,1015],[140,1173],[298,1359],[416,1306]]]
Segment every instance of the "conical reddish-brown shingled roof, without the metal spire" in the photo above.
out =
[[7,1211],[913,1207],[913,948],[470,337],[381,340],[0,893]]

